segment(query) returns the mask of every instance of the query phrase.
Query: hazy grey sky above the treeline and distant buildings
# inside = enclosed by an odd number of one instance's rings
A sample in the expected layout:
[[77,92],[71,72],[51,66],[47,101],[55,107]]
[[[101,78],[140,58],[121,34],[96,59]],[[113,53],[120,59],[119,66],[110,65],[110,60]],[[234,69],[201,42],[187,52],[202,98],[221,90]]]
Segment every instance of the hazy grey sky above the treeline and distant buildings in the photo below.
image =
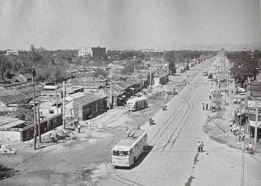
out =
[[0,50],[171,50],[260,38],[260,0],[0,1]]

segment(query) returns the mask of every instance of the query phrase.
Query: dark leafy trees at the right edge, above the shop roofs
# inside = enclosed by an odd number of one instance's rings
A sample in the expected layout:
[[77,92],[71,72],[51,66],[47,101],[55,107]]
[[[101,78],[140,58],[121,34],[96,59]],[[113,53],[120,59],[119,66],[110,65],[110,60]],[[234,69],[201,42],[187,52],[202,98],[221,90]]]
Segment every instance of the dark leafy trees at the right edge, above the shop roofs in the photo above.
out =
[[227,52],[225,55],[233,63],[231,75],[237,84],[244,87],[248,77],[253,77],[255,80],[257,69],[261,65],[261,51]]

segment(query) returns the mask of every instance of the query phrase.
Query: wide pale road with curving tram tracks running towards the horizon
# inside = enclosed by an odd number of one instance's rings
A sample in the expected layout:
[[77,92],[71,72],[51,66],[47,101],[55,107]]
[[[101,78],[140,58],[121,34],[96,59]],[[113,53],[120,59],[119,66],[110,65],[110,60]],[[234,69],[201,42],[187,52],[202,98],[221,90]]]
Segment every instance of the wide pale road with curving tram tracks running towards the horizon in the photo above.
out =
[[[210,87],[207,76],[195,77],[168,102],[168,110],[153,117],[155,125],[142,127],[152,149],[138,159],[138,165],[131,169],[101,165],[87,185],[240,185],[241,151],[202,131],[207,119],[202,103],[211,104]],[[204,142],[203,153],[197,152],[198,141]],[[245,154],[244,165],[244,183],[260,185],[260,162]]]

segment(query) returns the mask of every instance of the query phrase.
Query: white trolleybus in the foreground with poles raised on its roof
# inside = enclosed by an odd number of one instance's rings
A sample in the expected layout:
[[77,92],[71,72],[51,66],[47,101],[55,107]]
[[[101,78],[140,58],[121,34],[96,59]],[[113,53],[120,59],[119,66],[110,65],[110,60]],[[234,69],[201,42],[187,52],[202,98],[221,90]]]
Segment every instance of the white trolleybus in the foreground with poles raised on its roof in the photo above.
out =
[[135,165],[137,158],[147,147],[147,138],[147,132],[144,130],[133,130],[125,136],[112,149],[112,165],[118,167]]

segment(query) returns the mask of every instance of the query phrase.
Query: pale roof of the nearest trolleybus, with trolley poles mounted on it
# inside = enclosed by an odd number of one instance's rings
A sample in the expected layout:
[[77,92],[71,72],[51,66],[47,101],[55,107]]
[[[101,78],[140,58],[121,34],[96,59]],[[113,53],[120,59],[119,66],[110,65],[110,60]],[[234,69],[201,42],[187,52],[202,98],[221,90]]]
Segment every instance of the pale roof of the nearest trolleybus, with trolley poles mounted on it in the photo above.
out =
[[122,140],[120,140],[114,147],[113,150],[118,150],[118,149],[123,149],[123,150],[128,150],[131,145],[143,134],[145,134],[146,131],[144,130],[133,130],[131,131],[129,136],[133,137],[127,137],[125,136]]

